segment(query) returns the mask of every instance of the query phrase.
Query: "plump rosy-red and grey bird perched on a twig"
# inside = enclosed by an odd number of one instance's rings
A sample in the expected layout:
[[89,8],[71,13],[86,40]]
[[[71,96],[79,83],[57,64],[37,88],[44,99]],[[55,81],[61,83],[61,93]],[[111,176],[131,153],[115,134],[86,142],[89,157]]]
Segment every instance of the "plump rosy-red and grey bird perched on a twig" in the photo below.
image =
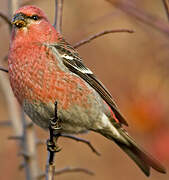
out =
[[166,173],[127,133],[127,121],[112,95],[84,64],[77,50],[33,5],[16,10],[8,53],[9,80],[24,112],[43,129],[57,114],[62,133],[100,133],[115,142],[143,171]]

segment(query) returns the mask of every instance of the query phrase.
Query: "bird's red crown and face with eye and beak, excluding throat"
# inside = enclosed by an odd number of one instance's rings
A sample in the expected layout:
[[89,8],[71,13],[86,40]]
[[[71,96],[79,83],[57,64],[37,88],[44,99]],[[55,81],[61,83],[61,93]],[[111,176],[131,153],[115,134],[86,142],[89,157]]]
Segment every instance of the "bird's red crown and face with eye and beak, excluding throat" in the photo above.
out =
[[35,6],[24,6],[18,9],[11,23],[17,29],[27,29],[33,24],[40,24],[42,21],[48,21],[43,11]]

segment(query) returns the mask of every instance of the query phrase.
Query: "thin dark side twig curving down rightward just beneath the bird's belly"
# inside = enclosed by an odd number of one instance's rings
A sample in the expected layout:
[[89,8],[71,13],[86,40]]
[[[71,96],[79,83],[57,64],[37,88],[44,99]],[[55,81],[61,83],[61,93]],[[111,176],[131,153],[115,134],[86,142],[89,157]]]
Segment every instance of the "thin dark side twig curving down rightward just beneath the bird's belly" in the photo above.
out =
[[82,138],[79,138],[79,137],[76,137],[76,136],[72,136],[72,135],[69,135],[69,134],[60,134],[61,137],[65,137],[65,138],[69,138],[69,139],[73,139],[75,141],[79,141],[79,142],[82,142],[82,143],[85,143],[87,144],[90,149],[96,153],[98,156],[100,156],[100,153],[92,146],[92,144],[90,143],[90,141],[86,140],[86,139],[82,139]]

